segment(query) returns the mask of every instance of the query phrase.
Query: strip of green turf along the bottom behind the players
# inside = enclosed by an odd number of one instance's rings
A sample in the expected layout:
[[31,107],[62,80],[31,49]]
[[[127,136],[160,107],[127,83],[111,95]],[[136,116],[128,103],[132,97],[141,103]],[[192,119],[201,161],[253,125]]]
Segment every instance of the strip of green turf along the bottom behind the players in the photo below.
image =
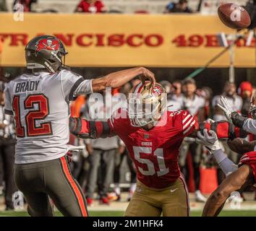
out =
[[[192,217],[200,217],[200,211],[192,211]],[[92,217],[122,217],[124,212],[119,211],[91,211]],[[0,217],[27,217],[27,212],[0,212]],[[56,216],[60,217],[61,214],[56,212]],[[236,210],[236,211],[223,211],[220,214],[221,217],[256,217],[255,210]]]

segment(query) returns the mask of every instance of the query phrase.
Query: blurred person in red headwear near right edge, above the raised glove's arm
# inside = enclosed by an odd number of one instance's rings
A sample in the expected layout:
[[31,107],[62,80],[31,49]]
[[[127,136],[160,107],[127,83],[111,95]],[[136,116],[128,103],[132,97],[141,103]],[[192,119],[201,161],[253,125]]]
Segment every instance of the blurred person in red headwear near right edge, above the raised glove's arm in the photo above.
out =
[[245,115],[245,116],[248,115],[249,103],[252,97],[252,90],[253,88],[250,82],[242,82],[239,86],[238,93],[243,100],[242,109],[241,109],[242,115]]

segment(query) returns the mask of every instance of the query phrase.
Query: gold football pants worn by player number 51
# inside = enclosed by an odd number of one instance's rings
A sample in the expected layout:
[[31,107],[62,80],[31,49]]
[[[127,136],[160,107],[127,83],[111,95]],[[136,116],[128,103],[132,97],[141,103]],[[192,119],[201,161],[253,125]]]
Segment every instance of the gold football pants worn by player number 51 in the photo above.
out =
[[188,217],[189,195],[183,176],[168,188],[149,188],[140,181],[125,212],[127,217]]

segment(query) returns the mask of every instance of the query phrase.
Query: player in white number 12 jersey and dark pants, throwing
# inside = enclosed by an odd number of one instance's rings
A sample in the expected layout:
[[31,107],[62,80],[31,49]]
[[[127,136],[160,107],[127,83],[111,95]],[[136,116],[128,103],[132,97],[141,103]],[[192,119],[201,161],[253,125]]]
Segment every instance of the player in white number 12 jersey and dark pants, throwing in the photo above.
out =
[[5,113],[14,115],[16,122],[14,180],[31,216],[53,216],[48,196],[64,216],[88,216],[85,197],[67,163],[69,101],[120,87],[138,75],[155,84],[154,74],[143,67],[83,79],[65,69],[66,55],[59,39],[33,38],[25,47],[31,74],[22,74],[5,89]]

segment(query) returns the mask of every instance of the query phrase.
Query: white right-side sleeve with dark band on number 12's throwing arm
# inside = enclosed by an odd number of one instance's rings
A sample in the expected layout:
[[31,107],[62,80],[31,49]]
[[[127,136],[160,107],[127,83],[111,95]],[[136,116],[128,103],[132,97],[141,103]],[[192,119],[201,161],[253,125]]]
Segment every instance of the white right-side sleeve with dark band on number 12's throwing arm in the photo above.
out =
[[77,95],[92,93],[92,80],[85,80],[72,71],[61,71],[61,87],[66,101],[72,101]]

